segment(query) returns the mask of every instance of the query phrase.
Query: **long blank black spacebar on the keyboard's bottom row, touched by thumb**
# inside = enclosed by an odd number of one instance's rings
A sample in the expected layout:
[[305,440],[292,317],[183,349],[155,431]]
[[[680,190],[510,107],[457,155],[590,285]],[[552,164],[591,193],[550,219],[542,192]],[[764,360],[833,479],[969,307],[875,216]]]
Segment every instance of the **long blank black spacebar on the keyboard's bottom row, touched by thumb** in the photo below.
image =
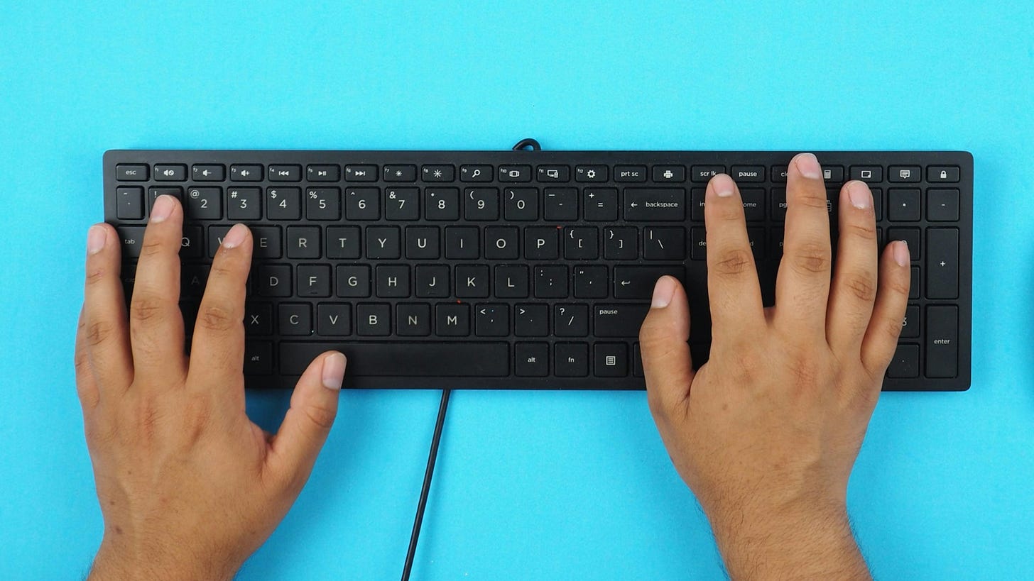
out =
[[510,374],[509,343],[280,343],[280,373],[301,375],[327,350],[348,358],[351,377],[504,377]]

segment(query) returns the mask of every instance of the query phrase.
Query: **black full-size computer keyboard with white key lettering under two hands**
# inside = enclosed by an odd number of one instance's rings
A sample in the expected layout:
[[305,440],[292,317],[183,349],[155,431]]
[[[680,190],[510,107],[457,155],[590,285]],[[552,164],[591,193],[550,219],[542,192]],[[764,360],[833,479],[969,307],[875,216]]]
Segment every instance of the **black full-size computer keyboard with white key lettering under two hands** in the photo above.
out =
[[[694,363],[707,359],[703,196],[716,173],[740,187],[763,299],[774,302],[792,155],[109,151],[104,218],[122,238],[128,298],[150,204],[183,201],[188,345],[222,236],[251,227],[249,387],[294,386],[335,348],[352,388],[643,389],[637,336],[661,275],[687,285]],[[912,253],[884,389],[968,389],[972,155],[818,157],[833,236],[840,187],[862,180],[881,247],[901,239]]]

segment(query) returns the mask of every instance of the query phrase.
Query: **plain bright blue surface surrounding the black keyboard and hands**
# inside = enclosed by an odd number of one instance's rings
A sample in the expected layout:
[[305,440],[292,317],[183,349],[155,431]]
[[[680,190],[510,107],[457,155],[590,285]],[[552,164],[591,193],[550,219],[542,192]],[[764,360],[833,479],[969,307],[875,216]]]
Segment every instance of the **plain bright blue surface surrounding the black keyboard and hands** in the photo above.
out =
[[[973,386],[881,397],[850,509],[882,579],[1034,576],[1029,2],[0,0],[0,578],[101,517],[71,351],[113,148],[964,149]],[[1011,4],[1011,5],[1010,5]],[[250,394],[277,425],[286,394]],[[351,392],[243,579],[391,579],[437,392]],[[723,573],[642,393],[454,394],[416,579]]]

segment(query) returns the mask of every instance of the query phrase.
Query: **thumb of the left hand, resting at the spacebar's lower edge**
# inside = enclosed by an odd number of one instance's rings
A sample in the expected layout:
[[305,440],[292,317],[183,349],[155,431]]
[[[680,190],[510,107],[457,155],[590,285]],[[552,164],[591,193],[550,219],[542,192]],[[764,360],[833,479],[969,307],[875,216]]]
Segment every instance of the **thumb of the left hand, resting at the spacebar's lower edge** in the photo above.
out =
[[327,440],[344,378],[344,356],[325,353],[298,379],[280,429],[271,442],[270,468],[292,488],[301,489]]

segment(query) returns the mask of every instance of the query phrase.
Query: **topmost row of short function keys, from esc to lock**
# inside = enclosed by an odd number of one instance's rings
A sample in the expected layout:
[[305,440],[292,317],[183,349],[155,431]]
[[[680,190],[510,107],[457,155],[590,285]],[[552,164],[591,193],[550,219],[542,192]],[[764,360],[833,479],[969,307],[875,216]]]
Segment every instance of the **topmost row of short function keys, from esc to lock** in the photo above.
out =
[[[120,163],[116,165],[116,180],[120,182],[144,182],[151,179],[151,166],[146,163]],[[153,179],[158,182],[184,182],[187,180],[187,166],[181,163],[156,163],[153,166]],[[690,181],[706,183],[718,174],[727,173],[740,183],[786,182],[787,165],[691,165]],[[842,183],[845,176],[852,180],[863,182],[895,182],[918,183],[922,181],[923,167],[919,165],[826,165],[823,166],[823,179],[827,182]],[[189,172],[192,181],[221,182],[226,180],[226,167],[219,163],[195,163]],[[625,182],[643,183],[651,179],[655,182],[681,183],[686,181],[686,165],[664,164],[652,165],[575,165],[572,173],[569,165],[537,165],[533,172],[531,165],[510,164],[431,164],[418,166],[415,164],[348,164],[344,165],[344,180],[348,182],[453,182],[457,177],[462,182],[493,182],[505,183],[530,182],[570,182],[572,177],[576,182]],[[929,183],[956,183],[960,180],[960,170],[956,165],[930,165],[925,169]],[[230,180],[234,182],[261,182],[268,179],[271,182],[300,182],[303,179],[303,169],[297,164],[260,163],[233,164],[230,166]],[[304,169],[304,179],[309,182],[337,182],[341,180],[341,166],[335,163],[309,164]]]

